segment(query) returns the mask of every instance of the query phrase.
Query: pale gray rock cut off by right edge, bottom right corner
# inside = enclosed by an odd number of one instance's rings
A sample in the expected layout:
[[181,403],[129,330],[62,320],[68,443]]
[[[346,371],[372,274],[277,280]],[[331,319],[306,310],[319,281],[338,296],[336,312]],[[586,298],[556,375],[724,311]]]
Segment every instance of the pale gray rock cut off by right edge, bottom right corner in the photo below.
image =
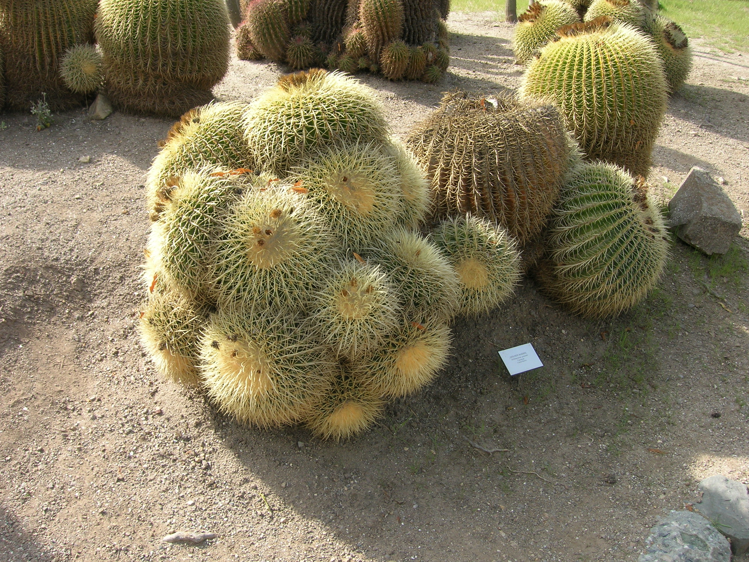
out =
[[749,492],[736,480],[718,474],[700,482],[703,498],[696,504],[706,516],[731,541],[733,554],[740,555],[749,549]]

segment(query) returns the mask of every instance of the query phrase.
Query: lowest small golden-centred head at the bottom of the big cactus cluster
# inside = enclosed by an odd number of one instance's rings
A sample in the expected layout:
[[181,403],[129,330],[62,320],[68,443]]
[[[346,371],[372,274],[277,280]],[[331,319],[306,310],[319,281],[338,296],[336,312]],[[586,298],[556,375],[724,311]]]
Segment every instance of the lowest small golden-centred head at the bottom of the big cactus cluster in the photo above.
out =
[[372,427],[383,406],[377,388],[344,367],[330,375],[330,390],[315,402],[305,423],[317,437],[341,441]]

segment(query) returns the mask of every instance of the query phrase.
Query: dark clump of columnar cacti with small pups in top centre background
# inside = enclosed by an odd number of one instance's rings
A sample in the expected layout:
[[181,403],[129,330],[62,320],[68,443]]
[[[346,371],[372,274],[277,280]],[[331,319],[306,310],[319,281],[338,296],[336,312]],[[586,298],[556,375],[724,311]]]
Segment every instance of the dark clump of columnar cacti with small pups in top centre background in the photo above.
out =
[[437,82],[450,60],[447,13],[444,0],[253,0],[237,56]]

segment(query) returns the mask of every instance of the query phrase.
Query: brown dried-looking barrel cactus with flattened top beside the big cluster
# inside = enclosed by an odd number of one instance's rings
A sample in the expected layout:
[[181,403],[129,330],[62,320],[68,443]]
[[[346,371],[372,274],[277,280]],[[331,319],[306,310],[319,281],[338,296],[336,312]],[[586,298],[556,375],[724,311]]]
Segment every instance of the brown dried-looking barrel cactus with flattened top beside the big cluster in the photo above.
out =
[[551,104],[463,91],[446,94],[407,145],[431,181],[435,218],[476,214],[521,243],[543,228],[572,150]]

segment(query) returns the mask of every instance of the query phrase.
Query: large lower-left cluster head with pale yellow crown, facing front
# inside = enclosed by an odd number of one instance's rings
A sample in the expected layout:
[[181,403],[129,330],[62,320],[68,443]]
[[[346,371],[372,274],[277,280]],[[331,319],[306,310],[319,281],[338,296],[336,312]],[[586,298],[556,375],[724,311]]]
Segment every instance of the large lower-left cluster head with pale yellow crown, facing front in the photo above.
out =
[[302,323],[271,311],[223,307],[211,316],[199,348],[210,399],[262,428],[308,417],[339,368]]

